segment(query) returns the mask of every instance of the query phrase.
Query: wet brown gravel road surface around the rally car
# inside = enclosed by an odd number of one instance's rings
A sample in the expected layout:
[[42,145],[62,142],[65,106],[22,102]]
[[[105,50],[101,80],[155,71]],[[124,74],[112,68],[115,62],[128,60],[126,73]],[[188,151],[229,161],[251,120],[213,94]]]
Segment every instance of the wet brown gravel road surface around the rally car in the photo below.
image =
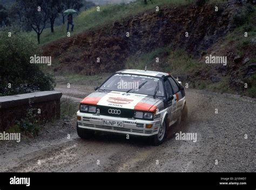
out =
[[[79,101],[92,87],[56,90]],[[193,89],[186,99],[187,123],[160,146],[116,134],[80,139],[74,117],[44,126],[36,139],[1,142],[0,172],[255,172],[255,99]],[[179,131],[197,141],[176,140]]]

